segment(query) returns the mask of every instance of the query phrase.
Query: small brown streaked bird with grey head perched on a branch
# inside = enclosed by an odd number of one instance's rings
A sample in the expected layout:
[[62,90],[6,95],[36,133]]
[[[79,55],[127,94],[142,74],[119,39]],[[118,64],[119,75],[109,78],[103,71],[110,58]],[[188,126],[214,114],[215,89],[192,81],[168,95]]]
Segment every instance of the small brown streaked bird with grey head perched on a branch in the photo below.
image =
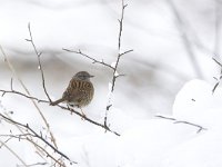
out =
[[62,98],[51,102],[52,106],[56,106],[60,102],[67,102],[72,107],[82,108],[89,105],[94,95],[94,88],[90,78],[91,76],[87,71],[80,71],[75,73],[69,82],[65,91],[62,95]]

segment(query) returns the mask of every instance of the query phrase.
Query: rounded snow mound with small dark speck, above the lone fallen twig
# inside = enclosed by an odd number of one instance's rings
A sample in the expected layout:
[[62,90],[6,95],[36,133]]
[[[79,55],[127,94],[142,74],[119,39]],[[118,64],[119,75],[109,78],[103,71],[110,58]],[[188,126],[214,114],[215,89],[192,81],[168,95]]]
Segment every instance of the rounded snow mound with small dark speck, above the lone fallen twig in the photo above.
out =
[[221,128],[222,89],[212,94],[213,85],[192,80],[180,90],[173,105],[173,116],[208,128]]

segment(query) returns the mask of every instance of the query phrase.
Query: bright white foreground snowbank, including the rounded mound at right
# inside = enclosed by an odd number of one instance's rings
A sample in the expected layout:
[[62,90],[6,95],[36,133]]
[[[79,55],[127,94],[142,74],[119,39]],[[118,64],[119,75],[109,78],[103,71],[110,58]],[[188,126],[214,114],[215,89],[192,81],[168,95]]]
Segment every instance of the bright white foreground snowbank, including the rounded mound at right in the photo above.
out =
[[[81,167],[219,167],[222,165],[222,91],[218,88],[212,95],[212,88],[213,85],[198,79],[185,84],[175,98],[171,116],[206,130],[196,132],[194,126],[162,118],[135,119],[113,107],[109,124],[120,137],[95,127],[88,135],[67,130],[59,137],[56,132],[59,148]],[[6,105],[4,100],[2,104]],[[24,154],[24,157],[30,156]]]

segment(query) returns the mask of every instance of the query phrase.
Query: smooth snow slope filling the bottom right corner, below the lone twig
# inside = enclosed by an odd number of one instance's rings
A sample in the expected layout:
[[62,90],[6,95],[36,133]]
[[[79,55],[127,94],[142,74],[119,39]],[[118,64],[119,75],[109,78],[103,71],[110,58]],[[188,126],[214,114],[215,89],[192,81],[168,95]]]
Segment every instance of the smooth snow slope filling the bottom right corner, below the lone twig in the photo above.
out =
[[219,167],[222,165],[222,135],[206,131],[172,149],[163,160],[168,167]]

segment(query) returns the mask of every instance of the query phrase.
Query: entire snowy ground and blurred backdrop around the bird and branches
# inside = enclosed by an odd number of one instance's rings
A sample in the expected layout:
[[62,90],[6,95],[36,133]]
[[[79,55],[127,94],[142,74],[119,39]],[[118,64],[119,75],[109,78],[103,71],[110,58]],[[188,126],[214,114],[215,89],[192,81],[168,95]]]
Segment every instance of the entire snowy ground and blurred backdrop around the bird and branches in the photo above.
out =
[[[59,150],[78,161],[72,166],[80,167],[222,166],[222,90],[212,94],[213,77],[220,73],[212,57],[220,61],[221,4],[212,0],[125,3],[122,51],[133,52],[121,58],[118,72],[127,76],[117,80],[108,114],[110,128],[121,136],[104,132],[60,108],[38,104]],[[120,0],[0,0],[0,45],[31,95],[46,98],[37,57],[24,40],[30,22],[52,99],[61,97],[73,73],[88,70],[95,76],[95,96],[84,112],[103,122],[111,71],[62,48],[81,49],[112,65],[118,53],[120,12]],[[0,89],[10,89],[11,77],[13,88],[23,91],[0,53]],[[8,111],[13,111],[13,119],[48,134],[29,99],[4,95],[0,112]],[[0,135],[10,130],[19,132],[0,119]],[[0,137],[0,146],[3,141]],[[7,146],[27,165],[42,163],[24,140],[10,139]],[[0,147],[0,166],[17,165],[21,161]]]

